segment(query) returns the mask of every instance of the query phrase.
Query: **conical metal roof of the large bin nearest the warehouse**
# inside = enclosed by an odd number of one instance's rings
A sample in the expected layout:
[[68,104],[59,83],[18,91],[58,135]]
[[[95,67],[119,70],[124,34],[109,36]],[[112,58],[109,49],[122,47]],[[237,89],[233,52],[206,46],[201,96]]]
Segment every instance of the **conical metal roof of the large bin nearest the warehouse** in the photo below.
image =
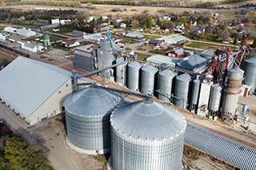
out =
[[118,93],[88,87],[66,98],[63,106],[66,111],[82,117],[101,117],[106,113],[111,113],[113,109],[122,101],[122,96]]

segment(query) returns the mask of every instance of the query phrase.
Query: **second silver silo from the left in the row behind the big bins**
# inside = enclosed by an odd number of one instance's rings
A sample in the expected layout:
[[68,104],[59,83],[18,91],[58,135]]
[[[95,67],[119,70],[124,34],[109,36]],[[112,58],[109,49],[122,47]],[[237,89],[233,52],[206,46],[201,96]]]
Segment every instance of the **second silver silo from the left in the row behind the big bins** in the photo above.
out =
[[138,90],[139,87],[139,69],[142,64],[134,61],[127,65],[127,88],[131,90]]

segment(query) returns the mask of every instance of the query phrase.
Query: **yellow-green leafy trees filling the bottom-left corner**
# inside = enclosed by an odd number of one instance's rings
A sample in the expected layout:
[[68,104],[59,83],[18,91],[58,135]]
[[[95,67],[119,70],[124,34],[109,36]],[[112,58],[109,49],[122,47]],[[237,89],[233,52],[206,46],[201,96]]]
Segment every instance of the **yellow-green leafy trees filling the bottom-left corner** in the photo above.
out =
[[52,170],[46,152],[13,136],[0,123],[0,170]]

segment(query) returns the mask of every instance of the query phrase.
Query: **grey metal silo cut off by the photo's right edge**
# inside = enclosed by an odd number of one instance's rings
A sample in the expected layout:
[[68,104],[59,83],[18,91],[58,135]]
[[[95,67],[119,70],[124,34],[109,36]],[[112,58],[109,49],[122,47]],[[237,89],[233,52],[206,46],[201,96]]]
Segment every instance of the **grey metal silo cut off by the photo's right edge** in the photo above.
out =
[[245,80],[243,83],[250,85],[250,93],[254,93],[256,89],[256,57],[246,59],[243,70],[245,71]]

